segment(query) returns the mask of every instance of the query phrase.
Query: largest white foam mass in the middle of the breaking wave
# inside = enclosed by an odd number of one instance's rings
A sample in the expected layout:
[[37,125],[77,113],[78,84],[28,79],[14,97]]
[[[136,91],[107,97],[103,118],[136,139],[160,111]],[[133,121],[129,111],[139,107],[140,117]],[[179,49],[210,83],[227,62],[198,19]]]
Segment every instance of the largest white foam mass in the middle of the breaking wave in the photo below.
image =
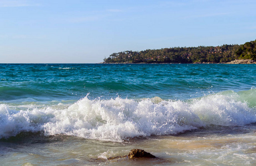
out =
[[54,120],[46,123],[44,130],[48,134],[122,141],[152,134],[177,134],[201,126],[199,118],[182,102],[177,102],[179,106],[169,103],[122,98],[92,101],[86,97],[67,110],[55,112]]

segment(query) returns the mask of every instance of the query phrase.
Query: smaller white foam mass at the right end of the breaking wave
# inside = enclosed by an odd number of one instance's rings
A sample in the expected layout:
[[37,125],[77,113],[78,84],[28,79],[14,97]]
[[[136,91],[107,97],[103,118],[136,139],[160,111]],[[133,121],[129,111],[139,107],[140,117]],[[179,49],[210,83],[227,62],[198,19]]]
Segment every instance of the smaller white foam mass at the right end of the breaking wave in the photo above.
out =
[[256,109],[233,92],[195,99],[191,108],[205,125],[235,126],[256,122]]

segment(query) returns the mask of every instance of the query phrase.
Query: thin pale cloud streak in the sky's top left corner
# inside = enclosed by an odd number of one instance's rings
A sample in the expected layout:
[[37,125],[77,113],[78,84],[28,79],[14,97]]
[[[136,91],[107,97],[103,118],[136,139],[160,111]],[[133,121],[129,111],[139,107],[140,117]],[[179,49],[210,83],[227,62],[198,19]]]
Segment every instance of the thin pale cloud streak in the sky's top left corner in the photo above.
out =
[[39,6],[39,4],[29,3],[27,1],[21,0],[2,0],[0,1],[0,7],[29,7],[29,6]]

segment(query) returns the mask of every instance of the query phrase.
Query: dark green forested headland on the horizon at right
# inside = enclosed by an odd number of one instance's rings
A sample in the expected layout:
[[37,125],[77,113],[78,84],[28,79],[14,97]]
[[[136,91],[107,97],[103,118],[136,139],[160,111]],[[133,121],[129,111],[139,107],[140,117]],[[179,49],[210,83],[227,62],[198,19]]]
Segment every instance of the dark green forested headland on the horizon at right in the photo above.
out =
[[227,63],[256,60],[256,40],[242,45],[174,47],[113,53],[104,63]]

